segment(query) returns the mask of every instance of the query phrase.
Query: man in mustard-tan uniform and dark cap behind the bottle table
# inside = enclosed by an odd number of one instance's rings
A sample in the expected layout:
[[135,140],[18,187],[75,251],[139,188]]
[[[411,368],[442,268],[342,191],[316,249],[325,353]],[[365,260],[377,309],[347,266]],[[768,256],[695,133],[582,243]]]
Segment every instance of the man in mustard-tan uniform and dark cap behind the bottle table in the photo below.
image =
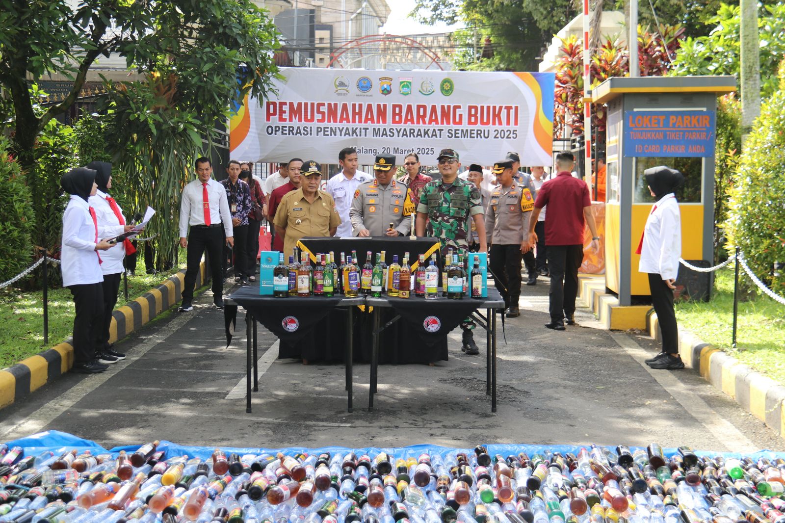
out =
[[283,238],[284,254],[305,236],[333,236],[341,223],[333,197],[319,189],[322,166],[314,160],[303,163],[301,177],[301,187],[283,196],[273,221]]

